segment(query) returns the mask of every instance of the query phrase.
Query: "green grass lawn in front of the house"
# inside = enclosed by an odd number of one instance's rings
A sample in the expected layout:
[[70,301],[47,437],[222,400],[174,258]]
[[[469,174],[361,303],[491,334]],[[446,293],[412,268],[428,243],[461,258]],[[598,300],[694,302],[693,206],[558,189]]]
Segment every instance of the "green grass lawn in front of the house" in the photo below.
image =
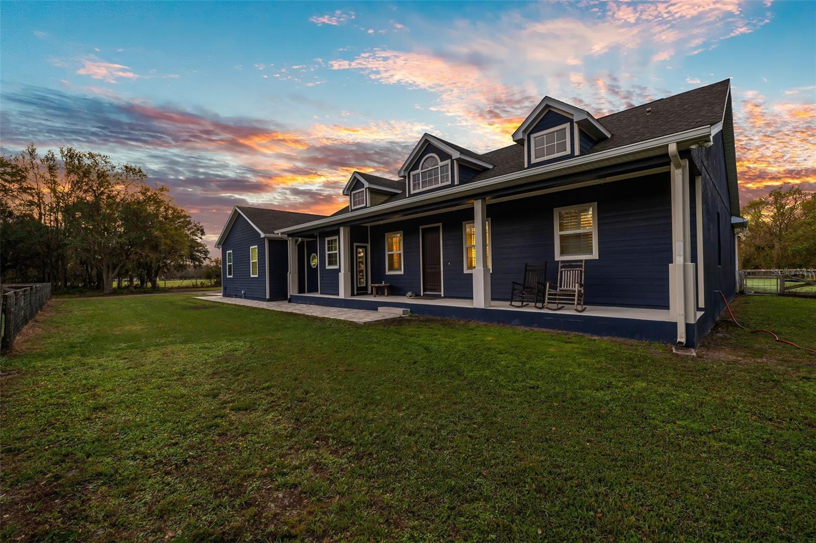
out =
[[[738,318],[814,344],[816,302]],[[2,540],[805,541],[816,355],[189,296],[60,300],[2,363]]]

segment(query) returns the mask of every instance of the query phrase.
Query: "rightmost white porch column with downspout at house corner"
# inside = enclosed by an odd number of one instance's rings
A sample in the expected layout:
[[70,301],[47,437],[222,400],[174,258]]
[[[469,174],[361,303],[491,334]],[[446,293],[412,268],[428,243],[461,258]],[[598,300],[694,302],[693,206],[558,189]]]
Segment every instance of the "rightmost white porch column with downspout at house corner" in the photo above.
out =
[[[672,149],[673,147],[673,149]],[[672,254],[669,264],[669,312],[677,321],[677,342],[685,344],[685,324],[696,316],[694,296],[694,263],[690,262],[690,186],[689,161],[681,160],[674,143],[669,145],[672,157],[670,174],[672,192]]]

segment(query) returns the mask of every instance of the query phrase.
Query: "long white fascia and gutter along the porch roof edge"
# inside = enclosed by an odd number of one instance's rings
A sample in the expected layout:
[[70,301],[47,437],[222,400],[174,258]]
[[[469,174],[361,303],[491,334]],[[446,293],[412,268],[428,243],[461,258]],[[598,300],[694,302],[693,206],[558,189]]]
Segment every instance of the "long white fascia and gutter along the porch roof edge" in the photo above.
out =
[[[668,143],[672,142],[688,144],[699,143],[699,141],[703,138],[710,141],[711,130],[712,127],[709,125],[699,126],[698,128],[683,130],[682,132],[676,132],[674,134],[659,136],[658,138],[647,139],[645,141],[638,143],[630,143],[629,145],[624,145],[623,147],[620,148],[595,152],[588,155],[579,155],[578,157],[570,158],[564,161],[558,161],[554,164],[546,164],[543,166],[537,166],[534,168],[527,168],[525,170],[512,172],[510,174],[499,175],[491,179],[477,181],[476,183],[455,185],[451,188],[447,188],[441,191],[428,192],[427,194],[413,196],[411,198],[406,198],[404,200],[395,201],[389,204],[376,205],[375,207],[367,208],[366,210],[353,211],[351,213],[338,215],[336,217],[331,217],[329,219],[321,219],[313,221],[311,223],[299,224],[294,227],[281,228],[276,232],[277,233],[299,232],[313,227],[330,226],[333,223],[343,223],[345,221],[348,221],[348,219],[357,218],[363,219],[368,215],[381,214],[386,210],[400,210],[403,208],[407,209],[415,205],[419,205],[423,202],[444,200],[448,196],[455,196],[459,193],[480,192],[483,189],[492,188],[494,187],[494,185],[507,183],[509,181],[517,179],[530,178],[530,180],[533,180],[533,178],[536,175],[549,174],[552,172],[558,172],[559,170],[567,170],[568,168],[573,166],[592,164],[593,162],[600,162],[605,159],[625,157],[628,154],[642,152],[650,149],[657,149],[663,151],[663,149],[666,148]],[[688,145],[686,145],[684,149],[685,148],[688,148]]]

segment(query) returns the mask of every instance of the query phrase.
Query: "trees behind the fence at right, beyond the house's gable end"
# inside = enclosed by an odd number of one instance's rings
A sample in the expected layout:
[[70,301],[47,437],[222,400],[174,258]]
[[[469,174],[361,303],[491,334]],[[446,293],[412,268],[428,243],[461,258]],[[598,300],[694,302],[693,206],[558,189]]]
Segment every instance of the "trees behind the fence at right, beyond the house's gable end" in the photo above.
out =
[[816,268],[816,193],[777,188],[743,206],[742,268]]

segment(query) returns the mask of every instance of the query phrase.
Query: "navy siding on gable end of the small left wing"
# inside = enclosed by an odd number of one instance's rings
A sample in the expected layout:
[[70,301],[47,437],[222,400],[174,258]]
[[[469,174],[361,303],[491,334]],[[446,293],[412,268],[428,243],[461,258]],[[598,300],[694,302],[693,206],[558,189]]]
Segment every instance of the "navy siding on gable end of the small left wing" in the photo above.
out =
[[[258,245],[258,276],[250,277],[250,247]],[[233,276],[227,277],[227,251],[233,251]],[[221,285],[228,298],[266,299],[264,238],[240,214],[221,246]]]

